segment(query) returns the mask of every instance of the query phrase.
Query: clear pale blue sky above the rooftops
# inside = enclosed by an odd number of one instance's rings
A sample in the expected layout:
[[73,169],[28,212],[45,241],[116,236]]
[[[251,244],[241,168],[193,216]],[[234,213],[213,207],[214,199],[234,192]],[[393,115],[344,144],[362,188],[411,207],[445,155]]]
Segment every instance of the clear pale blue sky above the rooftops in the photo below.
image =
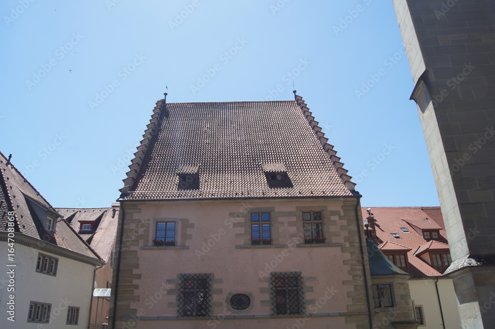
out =
[[293,100],[364,206],[438,206],[391,0],[2,0],[0,151],[54,207],[109,207],[155,102]]

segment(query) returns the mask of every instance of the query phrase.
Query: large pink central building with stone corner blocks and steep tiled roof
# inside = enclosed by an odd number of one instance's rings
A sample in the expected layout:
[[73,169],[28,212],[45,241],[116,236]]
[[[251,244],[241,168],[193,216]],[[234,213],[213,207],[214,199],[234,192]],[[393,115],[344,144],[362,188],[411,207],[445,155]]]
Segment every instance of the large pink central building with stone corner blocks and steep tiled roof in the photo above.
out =
[[[112,328],[371,328],[360,195],[327,142],[299,96],[158,101],[121,189]],[[383,328],[416,328],[396,292]]]

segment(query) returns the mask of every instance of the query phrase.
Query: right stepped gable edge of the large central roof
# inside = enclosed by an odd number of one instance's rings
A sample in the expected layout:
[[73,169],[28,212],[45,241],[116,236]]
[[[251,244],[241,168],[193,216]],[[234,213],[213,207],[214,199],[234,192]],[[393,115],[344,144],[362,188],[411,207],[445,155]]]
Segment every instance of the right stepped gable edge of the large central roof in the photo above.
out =
[[323,150],[325,150],[330,162],[332,163],[337,175],[339,175],[342,183],[347,187],[348,190],[354,191],[356,187],[356,183],[351,181],[351,176],[347,175],[348,170],[344,168],[344,163],[340,162],[341,158],[337,157],[337,151],[334,150],[334,146],[332,144],[328,144],[328,138],[325,137],[325,133],[321,131],[321,127],[318,126],[318,121],[314,120],[314,116],[312,116],[309,108],[306,103],[302,99],[301,96],[296,94],[294,91],[294,95],[296,96],[296,104],[302,110],[304,117],[308,121],[309,126],[313,130],[316,138],[320,141]]

